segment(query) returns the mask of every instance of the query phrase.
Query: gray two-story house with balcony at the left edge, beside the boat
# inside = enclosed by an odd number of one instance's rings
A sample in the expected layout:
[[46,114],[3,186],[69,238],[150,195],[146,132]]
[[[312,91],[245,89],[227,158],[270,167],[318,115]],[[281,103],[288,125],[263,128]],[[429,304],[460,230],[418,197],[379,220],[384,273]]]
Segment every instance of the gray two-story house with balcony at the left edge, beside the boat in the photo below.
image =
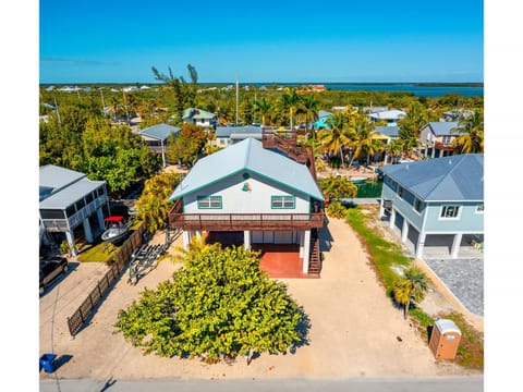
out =
[[40,167],[41,243],[60,243],[61,235],[65,234],[71,254],[75,256],[75,232],[83,231],[85,241],[93,243],[94,233],[105,229],[104,209],[109,213],[105,181],[90,181],[87,174],[53,164]]

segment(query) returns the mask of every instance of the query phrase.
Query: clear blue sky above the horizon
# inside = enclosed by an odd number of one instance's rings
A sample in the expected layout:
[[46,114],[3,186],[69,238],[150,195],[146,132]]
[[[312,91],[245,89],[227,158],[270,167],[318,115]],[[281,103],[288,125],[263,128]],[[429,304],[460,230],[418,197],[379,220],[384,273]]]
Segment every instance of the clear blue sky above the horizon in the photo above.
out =
[[483,1],[40,0],[41,83],[483,82]]

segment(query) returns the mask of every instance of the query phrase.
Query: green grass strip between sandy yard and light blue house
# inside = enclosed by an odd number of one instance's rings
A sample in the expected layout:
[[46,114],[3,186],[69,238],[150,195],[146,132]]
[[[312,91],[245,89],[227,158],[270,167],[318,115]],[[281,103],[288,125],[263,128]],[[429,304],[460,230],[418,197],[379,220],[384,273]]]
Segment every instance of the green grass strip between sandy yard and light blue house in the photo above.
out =
[[[388,296],[392,295],[392,285],[398,278],[391,267],[409,266],[412,258],[404,255],[402,248],[397,244],[382,238],[380,234],[369,228],[368,219],[374,218],[375,212],[364,213],[358,207],[346,210],[345,220],[360,235],[362,242],[366,245],[368,255],[377,275],[385,285]],[[429,342],[429,331],[434,326],[434,319],[425,314],[421,308],[413,306],[409,310],[411,320],[416,324],[419,332],[425,336],[427,345]],[[472,328],[458,313],[438,315],[440,318],[451,319],[461,330],[461,341],[454,362],[470,369],[483,369],[484,360],[484,340],[483,333]]]

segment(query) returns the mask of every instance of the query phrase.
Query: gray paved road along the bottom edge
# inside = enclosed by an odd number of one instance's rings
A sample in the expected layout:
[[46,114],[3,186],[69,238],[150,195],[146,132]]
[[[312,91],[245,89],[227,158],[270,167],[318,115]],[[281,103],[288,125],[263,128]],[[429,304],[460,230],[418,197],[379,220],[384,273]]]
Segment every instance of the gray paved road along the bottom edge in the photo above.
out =
[[195,392],[195,391],[321,391],[321,392],[479,392],[483,377],[344,379],[344,380],[45,380],[41,392]]

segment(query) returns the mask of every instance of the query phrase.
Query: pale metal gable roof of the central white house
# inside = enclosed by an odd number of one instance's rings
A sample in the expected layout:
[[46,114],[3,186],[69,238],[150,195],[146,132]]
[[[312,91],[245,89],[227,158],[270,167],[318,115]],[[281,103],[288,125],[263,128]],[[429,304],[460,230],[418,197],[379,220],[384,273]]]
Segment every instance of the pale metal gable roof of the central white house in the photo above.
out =
[[315,199],[324,199],[305,164],[265,149],[262,142],[251,137],[198,160],[169,199],[179,199],[240,171],[251,171]]

